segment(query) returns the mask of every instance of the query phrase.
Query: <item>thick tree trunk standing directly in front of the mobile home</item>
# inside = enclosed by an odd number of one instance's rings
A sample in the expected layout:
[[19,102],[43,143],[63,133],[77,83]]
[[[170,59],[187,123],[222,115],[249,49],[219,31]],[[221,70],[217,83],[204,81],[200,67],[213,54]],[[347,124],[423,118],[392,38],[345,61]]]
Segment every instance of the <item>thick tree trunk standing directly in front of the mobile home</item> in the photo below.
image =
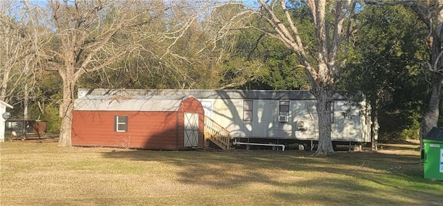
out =
[[332,146],[331,131],[331,101],[332,101],[332,89],[327,87],[317,87],[317,113],[318,113],[318,147],[314,156],[326,156],[330,153],[334,153],[334,147]]

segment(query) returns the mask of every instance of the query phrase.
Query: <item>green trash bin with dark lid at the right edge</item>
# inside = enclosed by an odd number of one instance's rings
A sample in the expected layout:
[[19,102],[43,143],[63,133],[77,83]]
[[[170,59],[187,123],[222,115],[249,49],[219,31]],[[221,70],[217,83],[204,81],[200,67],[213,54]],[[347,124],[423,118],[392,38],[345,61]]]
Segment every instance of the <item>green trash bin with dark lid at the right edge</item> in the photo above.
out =
[[424,178],[443,180],[443,127],[434,127],[423,138]]

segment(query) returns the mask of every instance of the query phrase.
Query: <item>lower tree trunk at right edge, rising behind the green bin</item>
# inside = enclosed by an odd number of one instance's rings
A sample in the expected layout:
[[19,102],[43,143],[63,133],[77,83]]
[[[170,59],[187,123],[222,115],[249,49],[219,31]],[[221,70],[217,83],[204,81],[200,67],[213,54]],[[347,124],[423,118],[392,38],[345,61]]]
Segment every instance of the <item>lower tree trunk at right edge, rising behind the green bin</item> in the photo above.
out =
[[440,94],[442,93],[443,75],[433,74],[431,79],[431,97],[429,99],[428,108],[423,114],[422,128],[420,129],[420,146],[423,147],[423,138],[431,131],[433,127],[437,127],[438,116],[440,115]]

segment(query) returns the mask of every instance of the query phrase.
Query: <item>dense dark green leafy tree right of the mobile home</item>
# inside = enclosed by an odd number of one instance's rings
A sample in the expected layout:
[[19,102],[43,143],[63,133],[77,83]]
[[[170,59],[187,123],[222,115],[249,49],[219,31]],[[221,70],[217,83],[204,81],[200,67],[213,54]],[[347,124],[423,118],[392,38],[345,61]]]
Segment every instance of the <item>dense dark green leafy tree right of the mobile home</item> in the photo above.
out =
[[[421,62],[426,59],[427,30],[402,6],[368,6],[359,14],[349,64],[341,71],[339,88],[363,91],[379,113],[385,138],[417,138],[427,84]],[[382,137],[383,138],[383,137]]]

